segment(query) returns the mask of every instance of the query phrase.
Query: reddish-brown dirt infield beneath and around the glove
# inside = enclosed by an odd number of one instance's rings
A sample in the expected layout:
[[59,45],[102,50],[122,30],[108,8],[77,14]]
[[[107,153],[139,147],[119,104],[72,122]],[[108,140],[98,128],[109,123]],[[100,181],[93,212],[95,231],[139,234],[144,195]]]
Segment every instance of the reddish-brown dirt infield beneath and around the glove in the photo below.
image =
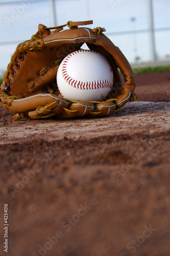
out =
[[0,105],[0,255],[169,255],[170,74],[136,83],[109,117],[13,121]]

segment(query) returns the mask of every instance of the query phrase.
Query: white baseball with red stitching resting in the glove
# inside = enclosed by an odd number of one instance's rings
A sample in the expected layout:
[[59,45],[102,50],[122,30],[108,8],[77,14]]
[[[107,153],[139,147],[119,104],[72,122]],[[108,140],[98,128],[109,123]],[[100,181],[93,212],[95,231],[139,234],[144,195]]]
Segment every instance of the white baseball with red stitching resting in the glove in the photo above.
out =
[[57,85],[66,99],[102,101],[112,89],[113,71],[102,54],[79,50],[62,60]]

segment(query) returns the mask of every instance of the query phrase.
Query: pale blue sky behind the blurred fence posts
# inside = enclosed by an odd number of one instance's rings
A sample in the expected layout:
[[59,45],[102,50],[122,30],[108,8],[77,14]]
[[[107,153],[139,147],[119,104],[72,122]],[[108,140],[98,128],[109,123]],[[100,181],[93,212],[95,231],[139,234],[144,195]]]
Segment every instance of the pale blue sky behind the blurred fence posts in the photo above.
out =
[[[170,0],[152,0],[156,55],[170,63]],[[7,4],[10,2],[10,4]],[[38,24],[52,26],[48,0],[0,0],[0,75],[6,71],[19,42],[30,39]],[[148,30],[148,0],[55,0],[56,26],[68,20],[93,20],[89,28],[104,27],[105,35],[124,53],[130,63],[136,57],[152,60]],[[132,22],[133,18],[133,22]],[[167,28],[166,30],[157,30]],[[114,34],[136,30],[136,33]],[[13,44],[9,44],[13,42]],[[87,49],[84,46],[84,49]],[[169,57],[168,57],[169,56]]]

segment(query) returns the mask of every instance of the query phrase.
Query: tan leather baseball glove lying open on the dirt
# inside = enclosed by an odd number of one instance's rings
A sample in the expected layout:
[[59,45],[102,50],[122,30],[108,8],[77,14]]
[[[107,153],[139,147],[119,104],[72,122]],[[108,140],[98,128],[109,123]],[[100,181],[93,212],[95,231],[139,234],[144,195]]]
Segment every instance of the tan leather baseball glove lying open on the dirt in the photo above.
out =
[[[0,100],[13,119],[99,117],[117,111],[128,101],[136,99],[135,80],[131,66],[124,54],[106,37],[104,28],[79,27],[92,24],[67,22],[47,28],[42,24],[31,39],[21,42],[1,84]],[[69,29],[63,30],[67,26]],[[65,99],[57,86],[56,75],[63,58],[88,48],[107,58],[113,70],[113,88],[105,101],[80,101]],[[119,70],[123,75],[123,86]]]

